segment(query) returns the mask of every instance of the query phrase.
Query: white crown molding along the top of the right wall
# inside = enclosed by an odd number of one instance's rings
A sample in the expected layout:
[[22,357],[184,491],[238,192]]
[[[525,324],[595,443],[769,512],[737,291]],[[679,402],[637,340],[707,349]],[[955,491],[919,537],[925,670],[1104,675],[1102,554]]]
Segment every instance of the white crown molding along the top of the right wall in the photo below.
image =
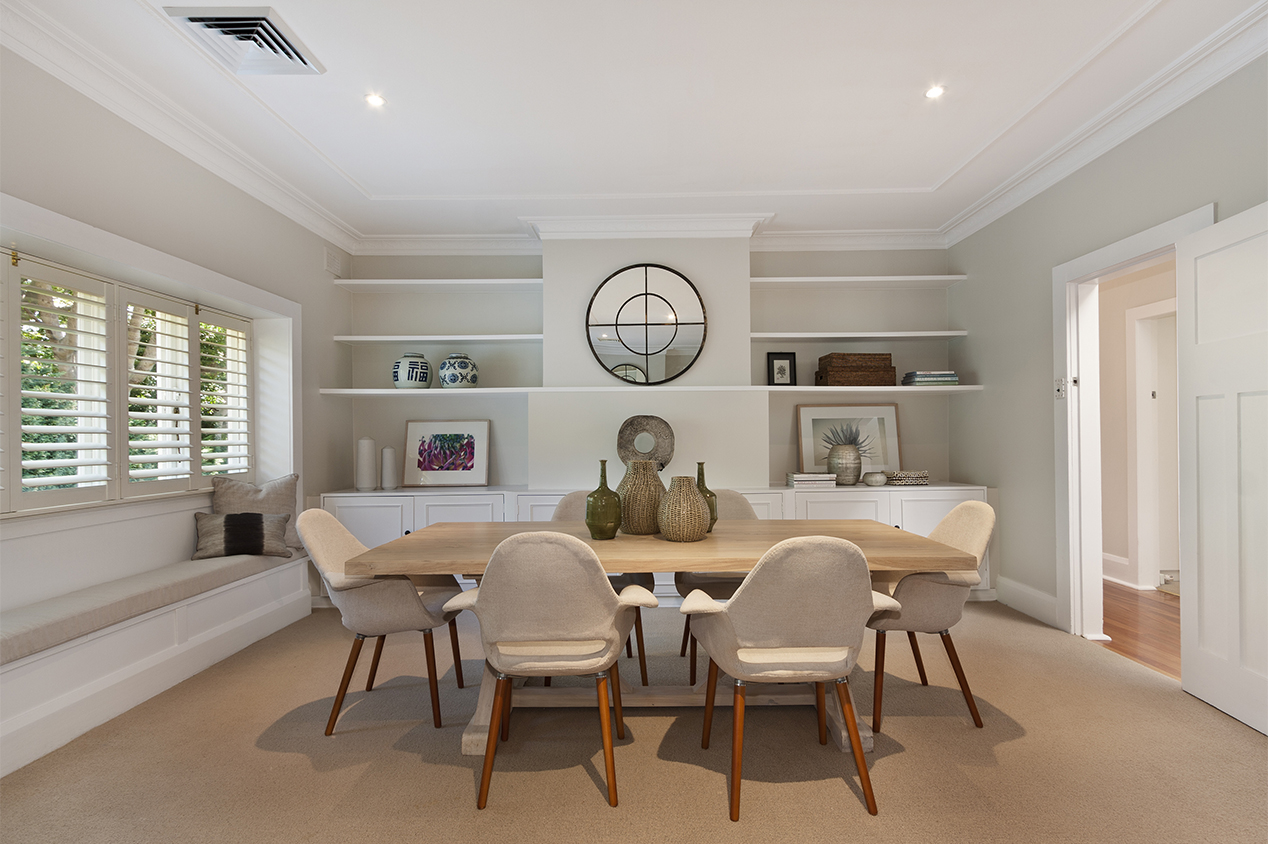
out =
[[1268,52],[1268,0],[1168,65],[940,231],[951,247],[1021,207]]

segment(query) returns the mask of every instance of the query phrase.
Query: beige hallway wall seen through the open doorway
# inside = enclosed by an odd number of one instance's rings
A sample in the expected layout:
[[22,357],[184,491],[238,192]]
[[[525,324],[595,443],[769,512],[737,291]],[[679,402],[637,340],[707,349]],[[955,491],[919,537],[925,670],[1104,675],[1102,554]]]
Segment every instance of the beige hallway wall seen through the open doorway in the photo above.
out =
[[1101,304],[1101,547],[1127,556],[1127,309],[1175,298],[1175,264],[1103,281]]

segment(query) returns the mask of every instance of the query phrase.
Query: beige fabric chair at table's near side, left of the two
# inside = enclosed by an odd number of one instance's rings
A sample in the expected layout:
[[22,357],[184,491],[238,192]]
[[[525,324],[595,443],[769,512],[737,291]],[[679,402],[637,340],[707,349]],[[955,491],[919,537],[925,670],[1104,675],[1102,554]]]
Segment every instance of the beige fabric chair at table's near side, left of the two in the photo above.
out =
[[445,604],[479,618],[484,658],[497,675],[488,745],[477,809],[488,801],[498,730],[510,736],[511,678],[592,675],[598,692],[598,725],[607,767],[607,802],[616,805],[616,762],[607,711],[607,683],[616,705],[616,735],[625,738],[618,659],[629,639],[634,611],[657,606],[640,585],[618,596],[595,551],[574,536],[553,531],[516,534],[489,558],[479,588]]

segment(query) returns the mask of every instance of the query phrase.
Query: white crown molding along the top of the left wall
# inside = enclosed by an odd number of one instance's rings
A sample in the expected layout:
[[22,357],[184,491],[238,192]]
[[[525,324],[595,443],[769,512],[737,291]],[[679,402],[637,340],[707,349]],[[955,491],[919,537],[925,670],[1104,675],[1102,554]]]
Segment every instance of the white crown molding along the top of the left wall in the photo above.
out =
[[0,3],[0,44],[345,251],[360,233],[25,0]]

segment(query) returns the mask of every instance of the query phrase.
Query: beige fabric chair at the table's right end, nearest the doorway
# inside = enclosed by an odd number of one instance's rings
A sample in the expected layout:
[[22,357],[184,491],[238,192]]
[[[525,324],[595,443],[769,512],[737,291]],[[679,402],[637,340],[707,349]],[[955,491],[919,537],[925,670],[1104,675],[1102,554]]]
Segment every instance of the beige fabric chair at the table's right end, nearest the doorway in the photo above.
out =
[[[990,532],[995,527],[995,511],[980,501],[966,501],[956,504],[955,509],[943,517],[929,532],[929,539],[950,545],[978,558],[981,565],[981,555],[987,553],[987,544],[990,542]],[[951,641],[951,627],[964,615],[964,602],[969,598],[969,589],[981,583],[976,572],[922,572],[900,577],[896,582],[893,578],[877,575],[874,587],[885,592],[893,591],[894,599],[902,604],[902,610],[879,612],[867,622],[867,626],[876,631],[876,683],[872,697],[872,732],[880,732],[880,698],[885,683],[885,634],[890,630],[907,631],[907,640],[912,644],[912,655],[915,658],[915,669],[921,675],[921,686],[928,686],[929,681],[924,675],[924,662],[921,659],[921,646],[915,643],[918,632],[936,632],[942,637],[951,668],[960,682],[960,691],[969,705],[973,722],[981,726],[981,716],[978,715],[978,705],[969,691],[969,681],[964,675],[960,665],[960,656],[956,655],[955,644]]]

